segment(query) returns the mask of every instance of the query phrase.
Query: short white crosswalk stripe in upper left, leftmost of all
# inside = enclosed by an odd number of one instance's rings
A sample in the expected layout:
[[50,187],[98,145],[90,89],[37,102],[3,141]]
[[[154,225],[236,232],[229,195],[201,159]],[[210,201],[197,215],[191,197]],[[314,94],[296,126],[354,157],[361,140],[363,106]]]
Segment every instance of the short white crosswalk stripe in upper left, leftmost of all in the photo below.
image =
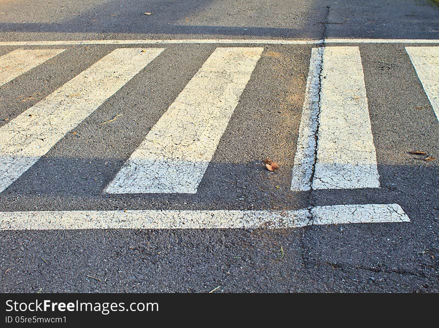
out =
[[0,85],[29,71],[65,49],[17,49],[0,57]]

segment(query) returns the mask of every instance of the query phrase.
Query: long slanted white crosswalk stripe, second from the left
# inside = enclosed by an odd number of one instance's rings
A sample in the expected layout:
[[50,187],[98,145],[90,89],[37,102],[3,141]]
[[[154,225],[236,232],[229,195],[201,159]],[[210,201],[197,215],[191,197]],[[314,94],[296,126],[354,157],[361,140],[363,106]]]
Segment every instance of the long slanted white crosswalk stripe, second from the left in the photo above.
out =
[[0,192],[162,51],[116,49],[0,127]]

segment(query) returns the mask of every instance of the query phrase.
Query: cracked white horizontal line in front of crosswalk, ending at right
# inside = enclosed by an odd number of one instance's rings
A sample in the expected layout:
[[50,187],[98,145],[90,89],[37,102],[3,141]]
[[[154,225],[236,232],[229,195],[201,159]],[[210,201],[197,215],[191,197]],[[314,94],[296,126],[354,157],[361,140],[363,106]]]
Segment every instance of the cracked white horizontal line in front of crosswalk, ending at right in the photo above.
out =
[[291,211],[128,210],[0,212],[0,230],[282,229],[410,222],[398,204],[333,205]]

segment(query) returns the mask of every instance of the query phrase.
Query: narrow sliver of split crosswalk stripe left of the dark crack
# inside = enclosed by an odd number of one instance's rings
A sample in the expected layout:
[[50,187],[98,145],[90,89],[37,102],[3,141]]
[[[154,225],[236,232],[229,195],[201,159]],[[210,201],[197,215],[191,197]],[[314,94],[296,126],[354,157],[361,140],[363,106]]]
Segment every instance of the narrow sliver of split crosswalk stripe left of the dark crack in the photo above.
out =
[[317,116],[319,112],[320,70],[323,48],[312,48],[306,79],[305,99],[300,119],[297,148],[291,175],[291,190],[311,189],[312,169],[315,162]]

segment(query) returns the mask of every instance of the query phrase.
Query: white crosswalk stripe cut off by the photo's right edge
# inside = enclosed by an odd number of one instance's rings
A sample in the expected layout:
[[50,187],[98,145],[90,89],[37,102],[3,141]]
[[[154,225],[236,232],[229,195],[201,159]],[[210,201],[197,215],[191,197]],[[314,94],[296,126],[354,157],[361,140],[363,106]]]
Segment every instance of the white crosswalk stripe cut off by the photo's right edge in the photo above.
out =
[[406,47],[406,51],[439,120],[439,47]]

